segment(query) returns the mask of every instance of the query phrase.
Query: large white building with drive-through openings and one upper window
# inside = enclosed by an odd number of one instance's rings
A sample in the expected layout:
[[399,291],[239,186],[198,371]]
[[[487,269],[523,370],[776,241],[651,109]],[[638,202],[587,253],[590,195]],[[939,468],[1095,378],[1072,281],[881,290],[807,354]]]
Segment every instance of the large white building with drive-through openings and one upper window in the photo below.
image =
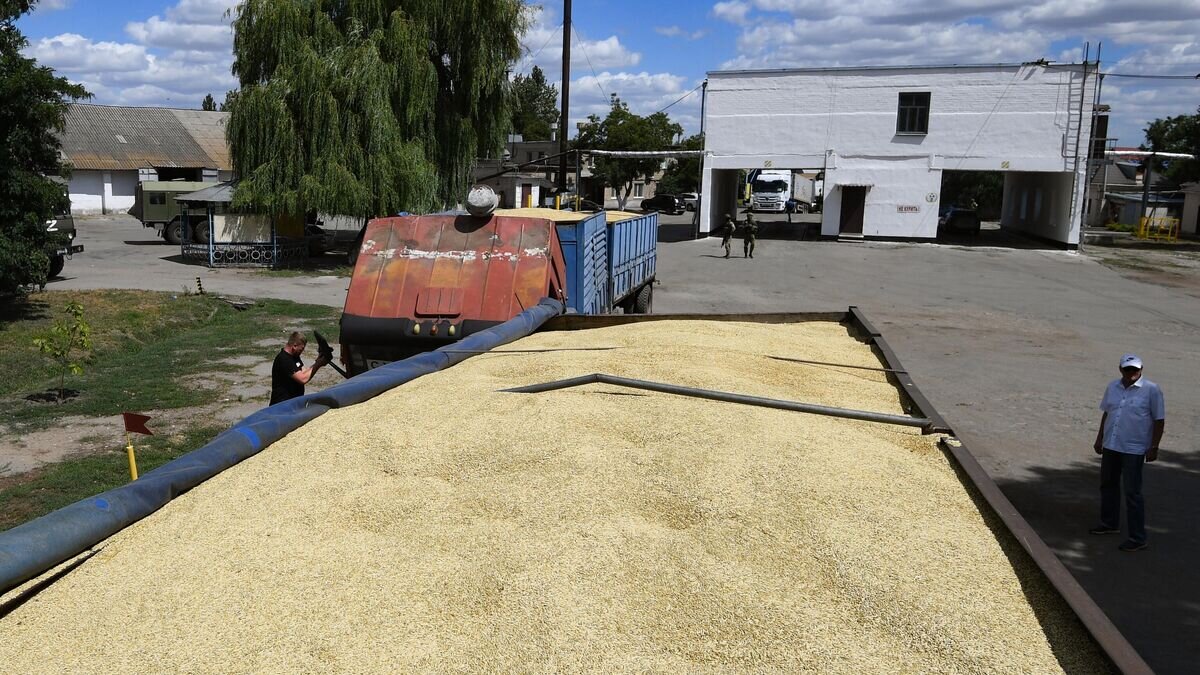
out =
[[998,171],[1002,227],[1075,247],[1094,86],[1091,64],[712,72],[700,229],[738,169],[823,169],[823,237],[934,239],[942,172]]

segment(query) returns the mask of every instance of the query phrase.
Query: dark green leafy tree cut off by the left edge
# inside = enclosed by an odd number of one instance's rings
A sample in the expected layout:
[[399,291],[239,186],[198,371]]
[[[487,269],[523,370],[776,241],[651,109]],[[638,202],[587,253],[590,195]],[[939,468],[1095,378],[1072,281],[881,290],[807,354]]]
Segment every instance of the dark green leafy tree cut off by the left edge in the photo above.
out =
[[67,207],[62,186],[48,178],[68,172],[58,132],[67,101],[89,96],[20,54],[28,42],[16,20],[35,2],[0,0],[0,294],[46,283],[46,221]]

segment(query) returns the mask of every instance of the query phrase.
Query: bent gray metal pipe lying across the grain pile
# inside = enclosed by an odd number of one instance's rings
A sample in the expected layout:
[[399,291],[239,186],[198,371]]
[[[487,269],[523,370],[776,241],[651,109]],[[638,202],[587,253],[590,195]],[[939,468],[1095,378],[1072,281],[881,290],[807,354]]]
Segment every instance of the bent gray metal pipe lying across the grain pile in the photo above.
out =
[[716,392],[714,389],[697,389],[695,387],[682,387],[679,384],[650,382],[648,380],[632,380],[629,377],[618,377],[616,375],[605,375],[602,372],[593,372],[592,375],[583,375],[580,377],[571,377],[568,380],[557,380],[554,382],[542,382],[540,384],[529,384],[526,387],[514,387],[511,389],[502,389],[502,392],[509,392],[514,394],[540,394],[542,392],[552,392],[554,389],[568,389],[571,387],[582,387],[584,384],[598,384],[598,383],[614,384],[617,387],[629,387],[631,389],[646,389],[648,392],[659,392],[662,394],[676,394],[679,396],[691,396],[695,399],[724,401],[727,404],[742,404],[746,406],[758,406],[764,408],[806,412],[812,414],[824,414],[829,417],[841,417],[846,419],[877,422],[881,424],[896,424],[900,426],[917,426],[920,428],[922,431],[925,434],[932,431],[932,422],[924,417],[908,417],[902,414],[888,414],[882,412],[870,412],[870,411],[860,411],[851,408],[835,408],[830,406],[820,406],[816,404],[785,401],[781,399],[748,396],[745,394],[731,394],[728,392]]

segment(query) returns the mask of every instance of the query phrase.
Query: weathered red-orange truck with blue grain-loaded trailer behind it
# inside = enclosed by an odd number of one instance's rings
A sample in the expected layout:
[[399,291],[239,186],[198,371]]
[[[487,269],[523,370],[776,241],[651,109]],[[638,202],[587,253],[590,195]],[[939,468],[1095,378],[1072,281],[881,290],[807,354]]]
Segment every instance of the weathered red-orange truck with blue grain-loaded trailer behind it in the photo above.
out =
[[580,315],[653,307],[658,214],[497,210],[372,220],[341,319],[350,375],[444,347],[541,298]]

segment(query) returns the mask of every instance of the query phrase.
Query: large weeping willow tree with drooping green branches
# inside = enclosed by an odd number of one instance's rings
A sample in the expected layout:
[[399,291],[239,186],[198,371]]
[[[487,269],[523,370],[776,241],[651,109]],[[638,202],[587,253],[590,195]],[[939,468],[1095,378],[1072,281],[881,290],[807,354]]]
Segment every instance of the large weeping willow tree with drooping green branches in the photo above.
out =
[[425,211],[460,202],[509,126],[521,0],[245,0],[226,136],[238,207]]

